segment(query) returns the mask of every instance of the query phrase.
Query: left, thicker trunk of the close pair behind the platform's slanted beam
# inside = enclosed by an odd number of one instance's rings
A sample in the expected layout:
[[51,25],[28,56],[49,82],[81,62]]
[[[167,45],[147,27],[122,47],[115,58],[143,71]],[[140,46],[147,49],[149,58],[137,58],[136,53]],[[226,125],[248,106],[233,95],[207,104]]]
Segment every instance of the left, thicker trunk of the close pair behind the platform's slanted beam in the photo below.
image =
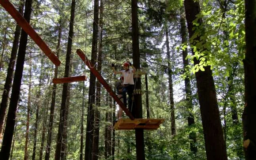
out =
[[[93,11],[93,40],[91,46],[91,63],[94,65],[97,58],[97,43],[98,43],[98,23],[99,23],[99,1],[94,1]],[[85,140],[85,151],[84,160],[92,160],[93,158],[93,121],[94,121],[94,110],[93,105],[95,104],[95,83],[96,77],[90,72],[90,86],[89,86],[89,99],[88,99],[88,110],[87,110],[87,127],[86,127],[86,140]]]

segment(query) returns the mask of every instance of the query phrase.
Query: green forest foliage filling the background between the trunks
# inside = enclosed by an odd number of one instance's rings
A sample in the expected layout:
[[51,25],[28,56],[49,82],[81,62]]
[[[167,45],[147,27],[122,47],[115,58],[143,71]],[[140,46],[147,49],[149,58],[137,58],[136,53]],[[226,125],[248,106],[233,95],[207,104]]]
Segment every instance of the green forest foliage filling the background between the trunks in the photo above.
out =
[[[202,160],[206,159],[203,128],[200,116],[199,102],[197,99],[197,88],[194,74],[204,71],[205,66],[211,66],[214,75],[215,88],[217,92],[218,105],[223,122],[223,130],[226,131],[226,146],[229,159],[244,159],[242,152],[242,124],[241,114],[244,102],[244,71],[242,60],[245,52],[245,31],[244,31],[244,1],[235,0],[227,5],[226,11],[219,6],[217,1],[200,1],[201,13],[197,15],[203,19],[203,24],[199,25],[195,20],[194,30],[196,33],[189,40],[190,44],[181,43],[180,40],[180,16],[182,7],[181,0],[169,1],[139,1],[139,45],[140,64],[142,70],[148,74],[148,93],[151,118],[164,118],[165,122],[158,130],[144,132],[144,144],[146,159],[148,160]],[[14,2],[16,3],[16,1]],[[40,1],[34,3],[33,17],[31,25],[42,37],[48,46],[54,51],[60,51],[59,75],[64,76],[65,53],[67,50],[68,24],[69,24],[69,1]],[[77,1],[74,37],[72,46],[72,60],[70,76],[86,75],[89,78],[90,71],[84,67],[84,63],[75,54],[75,50],[80,48],[90,58],[93,17],[92,4],[89,1]],[[110,65],[115,63],[117,70],[121,70],[121,64],[126,60],[132,60],[132,40],[131,40],[131,4],[128,1],[105,1],[103,11],[103,32],[102,38],[102,72],[101,75],[114,85],[117,76],[114,76]],[[224,16],[223,16],[224,15]],[[3,55],[3,69],[0,71],[0,88],[3,88],[7,73],[7,62],[10,58],[11,45],[15,22],[10,16],[0,9],[0,51],[2,51],[3,37],[7,33],[7,46]],[[61,45],[57,46],[59,26],[63,27]],[[170,59],[166,55],[165,26],[168,27]],[[203,33],[203,34],[202,34]],[[203,35],[203,36],[201,36]],[[201,36],[199,41],[195,38]],[[189,65],[186,72],[183,71],[182,50],[188,49]],[[191,50],[195,52],[191,56]],[[44,111],[46,110],[47,122],[49,119],[49,106],[52,94],[52,78],[54,66],[52,62],[41,52],[31,39],[28,43],[27,53],[32,54],[32,58],[26,57],[26,65],[23,73],[22,88],[20,94],[19,109],[17,114],[17,128],[14,138],[14,152],[12,157],[23,159],[25,144],[27,88],[32,86],[32,108],[29,130],[29,157],[32,156],[33,134],[35,124],[35,110],[37,104],[39,108],[39,123],[37,133],[36,159],[39,159],[39,147],[43,131]],[[194,59],[199,64],[194,65]],[[32,84],[28,81],[28,60],[32,60]],[[171,133],[171,115],[168,85],[168,62],[171,64],[174,86],[174,109],[176,120],[175,136]],[[41,67],[42,66],[42,67]],[[184,79],[189,78],[192,86],[191,102],[192,108],[185,100]],[[38,98],[39,81],[41,94]],[[145,90],[144,75],[142,76],[142,89]],[[67,139],[67,159],[79,159],[80,152],[80,127],[81,110],[84,107],[87,111],[88,97],[85,98],[85,106],[82,106],[82,83],[76,82],[70,85],[70,105],[68,114],[68,139]],[[89,81],[86,82],[86,95],[88,95]],[[114,87],[113,87],[114,88]],[[2,91],[3,92],[3,91]],[[2,94],[1,92],[1,94]],[[51,159],[54,157],[56,138],[58,132],[62,85],[57,85],[55,114],[53,122]],[[105,151],[105,125],[110,122],[105,121],[105,112],[113,111],[106,101],[106,90],[101,90],[101,106],[98,107],[100,115],[99,133],[99,160],[104,160]],[[146,95],[142,95],[143,117],[146,117]],[[232,113],[237,109],[238,122],[234,123]],[[187,118],[192,113],[195,124],[188,126]],[[87,115],[84,115],[84,119]],[[225,124],[224,124],[225,121]],[[86,120],[83,125],[86,126]],[[225,125],[225,126],[224,126]],[[48,123],[46,123],[48,127]],[[84,129],[85,130],[85,129]],[[47,132],[46,132],[47,133]],[[193,155],[190,151],[189,134],[196,133],[197,153]],[[84,132],[84,142],[85,142]],[[134,131],[116,131],[115,159],[136,159],[135,133]],[[118,142],[119,141],[119,142]],[[45,148],[44,144],[44,148]],[[129,148],[129,152],[127,151]],[[84,152],[84,151],[83,151]],[[45,153],[45,152],[44,152]],[[111,157],[110,157],[111,159]]]

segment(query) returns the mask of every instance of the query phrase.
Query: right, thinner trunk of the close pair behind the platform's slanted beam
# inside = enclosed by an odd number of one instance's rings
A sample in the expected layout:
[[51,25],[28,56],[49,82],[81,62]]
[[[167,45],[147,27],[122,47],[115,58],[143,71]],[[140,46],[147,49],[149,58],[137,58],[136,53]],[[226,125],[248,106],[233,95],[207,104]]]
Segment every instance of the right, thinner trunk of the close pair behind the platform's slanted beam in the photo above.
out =
[[[99,7],[99,51],[98,51],[98,62],[97,70],[101,74],[102,69],[102,27],[103,27],[103,1],[100,1]],[[100,113],[98,107],[101,106],[101,83],[97,81],[96,83],[96,108],[95,108],[95,120],[94,120],[94,134],[93,134],[93,160],[98,160],[99,154],[99,122]]]

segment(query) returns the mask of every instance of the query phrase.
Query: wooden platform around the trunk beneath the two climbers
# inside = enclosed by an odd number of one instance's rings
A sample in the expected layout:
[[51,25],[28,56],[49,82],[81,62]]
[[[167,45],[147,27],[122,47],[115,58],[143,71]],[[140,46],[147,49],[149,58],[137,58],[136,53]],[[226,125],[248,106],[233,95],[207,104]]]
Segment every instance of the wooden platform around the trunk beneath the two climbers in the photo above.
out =
[[115,130],[133,130],[137,128],[157,130],[164,119],[134,119],[123,118],[114,125]]

